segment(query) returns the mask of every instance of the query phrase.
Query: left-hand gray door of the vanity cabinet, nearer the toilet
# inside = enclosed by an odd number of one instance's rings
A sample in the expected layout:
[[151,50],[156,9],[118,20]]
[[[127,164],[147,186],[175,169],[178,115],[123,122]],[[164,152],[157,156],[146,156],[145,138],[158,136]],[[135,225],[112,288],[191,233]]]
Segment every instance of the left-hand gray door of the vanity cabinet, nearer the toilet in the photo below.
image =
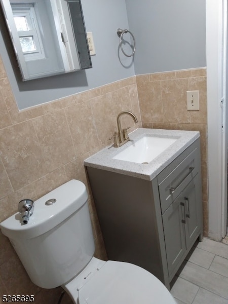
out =
[[169,277],[185,255],[184,208],[181,196],[162,215]]

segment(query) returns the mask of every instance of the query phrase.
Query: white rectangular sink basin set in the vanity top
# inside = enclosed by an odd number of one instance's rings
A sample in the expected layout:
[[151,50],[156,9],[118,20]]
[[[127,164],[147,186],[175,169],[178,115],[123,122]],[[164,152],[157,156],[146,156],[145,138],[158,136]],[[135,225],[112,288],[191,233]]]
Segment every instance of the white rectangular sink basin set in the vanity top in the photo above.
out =
[[113,159],[148,164],[177,139],[178,137],[170,138],[144,135],[141,139],[133,142],[132,145],[126,147],[123,151],[113,157]]

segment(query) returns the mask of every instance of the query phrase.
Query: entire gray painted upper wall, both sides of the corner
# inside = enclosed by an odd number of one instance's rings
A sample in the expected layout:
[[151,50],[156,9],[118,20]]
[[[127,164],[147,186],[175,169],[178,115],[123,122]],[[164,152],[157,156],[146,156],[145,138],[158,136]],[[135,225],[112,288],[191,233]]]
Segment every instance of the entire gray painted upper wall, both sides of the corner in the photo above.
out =
[[[205,0],[82,0],[96,55],[93,68],[22,82],[0,14],[0,54],[19,109],[62,98],[134,74],[206,66]],[[118,28],[136,39],[134,64],[119,50]],[[129,35],[124,35],[129,39]],[[130,52],[128,45],[124,46]]]

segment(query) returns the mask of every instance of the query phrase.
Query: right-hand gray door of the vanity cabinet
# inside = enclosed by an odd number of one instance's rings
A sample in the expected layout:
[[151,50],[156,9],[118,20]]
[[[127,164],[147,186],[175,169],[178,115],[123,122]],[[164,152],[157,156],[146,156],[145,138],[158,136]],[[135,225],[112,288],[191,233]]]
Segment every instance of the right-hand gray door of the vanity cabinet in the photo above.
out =
[[201,228],[200,220],[200,181],[199,175],[197,174],[195,178],[189,182],[189,184],[184,188],[181,197],[182,203],[184,203],[185,210],[185,237],[186,237],[186,249],[191,247],[196,241],[196,237],[199,234]]

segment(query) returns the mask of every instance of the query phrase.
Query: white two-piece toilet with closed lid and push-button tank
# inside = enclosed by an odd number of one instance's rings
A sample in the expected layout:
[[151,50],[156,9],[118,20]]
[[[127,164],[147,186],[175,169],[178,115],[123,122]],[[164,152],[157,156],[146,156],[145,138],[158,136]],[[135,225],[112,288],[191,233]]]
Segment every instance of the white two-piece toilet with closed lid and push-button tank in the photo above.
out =
[[31,281],[62,286],[75,304],[176,304],[151,273],[93,256],[95,245],[84,183],[70,180],[35,201],[27,224],[16,213],[0,223]]

